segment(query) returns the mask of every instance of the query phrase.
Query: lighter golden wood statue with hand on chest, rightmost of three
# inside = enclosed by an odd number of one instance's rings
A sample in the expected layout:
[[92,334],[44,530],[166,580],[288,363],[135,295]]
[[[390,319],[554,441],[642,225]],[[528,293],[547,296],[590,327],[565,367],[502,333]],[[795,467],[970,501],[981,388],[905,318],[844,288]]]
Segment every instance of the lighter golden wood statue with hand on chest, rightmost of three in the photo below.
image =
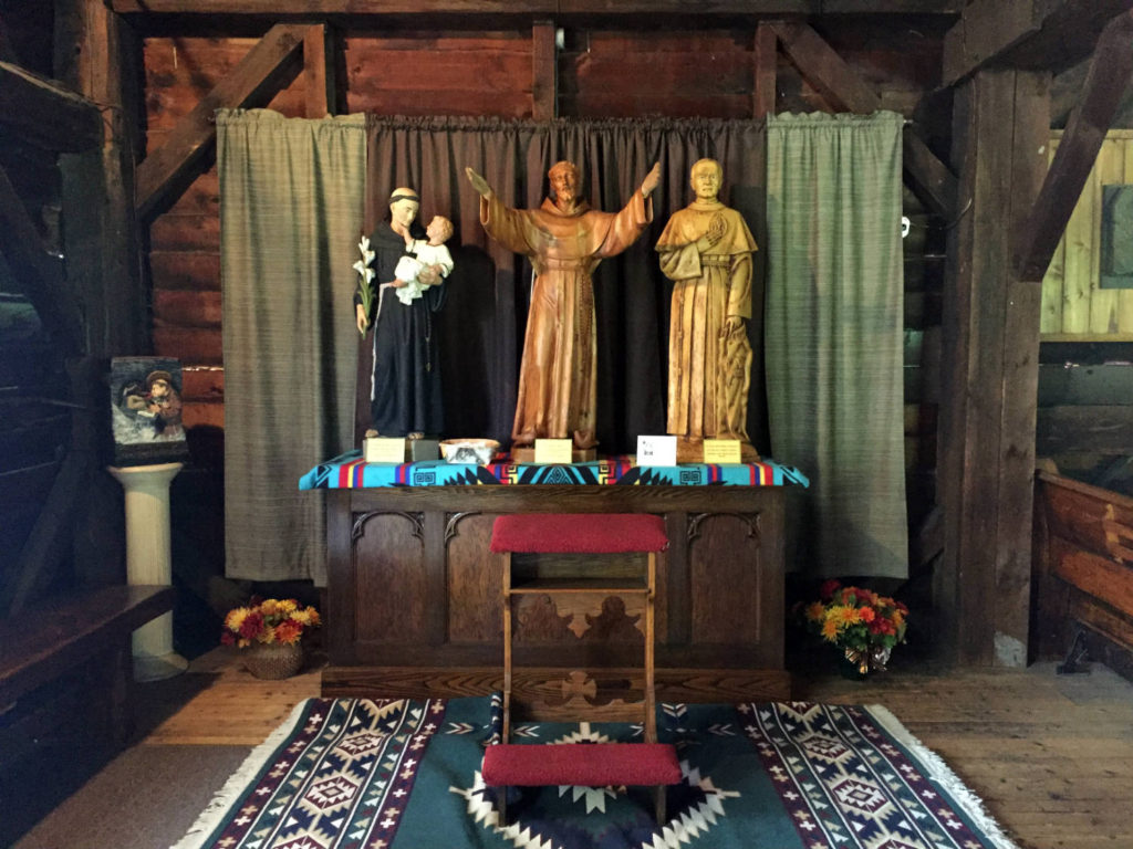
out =
[[741,458],[759,458],[748,438],[751,385],[751,252],[740,213],[716,197],[723,169],[692,165],[697,199],[678,211],[657,241],[661,271],[673,281],[668,327],[668,421],[679,462],[699,462],[704,440],[736,439]]

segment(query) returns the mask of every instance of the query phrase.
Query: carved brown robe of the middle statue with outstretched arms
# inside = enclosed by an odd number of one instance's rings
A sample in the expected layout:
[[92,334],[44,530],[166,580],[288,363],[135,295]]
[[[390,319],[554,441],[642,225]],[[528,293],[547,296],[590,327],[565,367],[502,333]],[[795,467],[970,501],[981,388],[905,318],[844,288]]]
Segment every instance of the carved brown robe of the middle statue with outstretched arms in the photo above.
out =
[[653,201],[638,189],[619,213],[570,213],[550,199],[538,209],[511,209],[493,195],[480,198],[487,234],[535,267],[531,308],[519,369],[511,438],[571,438],[577,448],[597,445],[595,402],[597,338],[590,275],[605,257],[621,254],[653,221]]

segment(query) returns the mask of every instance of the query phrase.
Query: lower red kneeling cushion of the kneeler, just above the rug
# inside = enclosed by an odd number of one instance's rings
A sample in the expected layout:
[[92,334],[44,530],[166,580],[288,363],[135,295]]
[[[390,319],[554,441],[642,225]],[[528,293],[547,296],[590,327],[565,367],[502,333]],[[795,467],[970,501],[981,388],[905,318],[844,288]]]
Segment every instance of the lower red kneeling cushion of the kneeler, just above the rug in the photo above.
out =
[[676,784],[681,765],[666,743],[500,743],[484,751],[488,787]]

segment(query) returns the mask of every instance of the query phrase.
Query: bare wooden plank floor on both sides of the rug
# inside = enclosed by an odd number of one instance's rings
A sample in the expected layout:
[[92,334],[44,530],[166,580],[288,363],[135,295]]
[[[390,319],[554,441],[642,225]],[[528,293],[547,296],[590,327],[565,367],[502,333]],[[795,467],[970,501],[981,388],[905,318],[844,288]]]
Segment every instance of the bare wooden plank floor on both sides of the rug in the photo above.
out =
[[[318,675],[263,681],[230,650],[210,652],[182,676],[195,679],[195,694],[140,745],[256,745],[298,701],[318,695]],[[942,675],[895,669],[868,681],[796,672],[793,695],[888,707],[1020,847],[1133,848],[1133,685],[1101,664],[1075,676],[1057,676],[1053,663]]]

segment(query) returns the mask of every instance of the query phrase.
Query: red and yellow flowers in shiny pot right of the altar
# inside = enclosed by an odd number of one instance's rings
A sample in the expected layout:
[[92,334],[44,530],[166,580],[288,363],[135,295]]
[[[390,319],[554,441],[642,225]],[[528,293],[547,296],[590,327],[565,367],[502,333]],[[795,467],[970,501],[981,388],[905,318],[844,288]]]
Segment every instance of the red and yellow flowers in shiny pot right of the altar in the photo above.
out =
[[909,608],[837,581],[826,581],[818,595],[818,601],[802,609],[807,629],[842,649],[861,675],[870,669],[884,671],[893,646],[905,641]]

